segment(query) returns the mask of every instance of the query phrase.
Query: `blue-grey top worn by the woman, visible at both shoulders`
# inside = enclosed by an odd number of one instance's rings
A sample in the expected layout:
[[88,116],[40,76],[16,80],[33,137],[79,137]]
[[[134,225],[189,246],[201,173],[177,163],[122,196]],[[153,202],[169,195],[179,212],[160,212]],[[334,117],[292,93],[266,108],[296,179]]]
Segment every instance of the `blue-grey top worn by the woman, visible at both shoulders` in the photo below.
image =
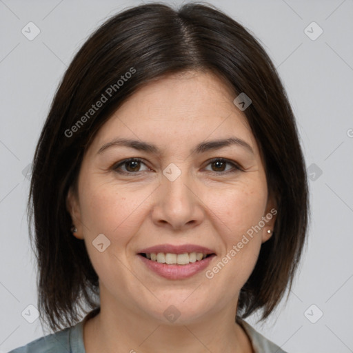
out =
[[[83,325],[92,316],[94,316],[94,310],[76,325],[48,334],[8,353],[85,353]],[[236,322],[248,334],[255,353],[286,353],[278,345],[265,339],[246,321],[237,319]]]

